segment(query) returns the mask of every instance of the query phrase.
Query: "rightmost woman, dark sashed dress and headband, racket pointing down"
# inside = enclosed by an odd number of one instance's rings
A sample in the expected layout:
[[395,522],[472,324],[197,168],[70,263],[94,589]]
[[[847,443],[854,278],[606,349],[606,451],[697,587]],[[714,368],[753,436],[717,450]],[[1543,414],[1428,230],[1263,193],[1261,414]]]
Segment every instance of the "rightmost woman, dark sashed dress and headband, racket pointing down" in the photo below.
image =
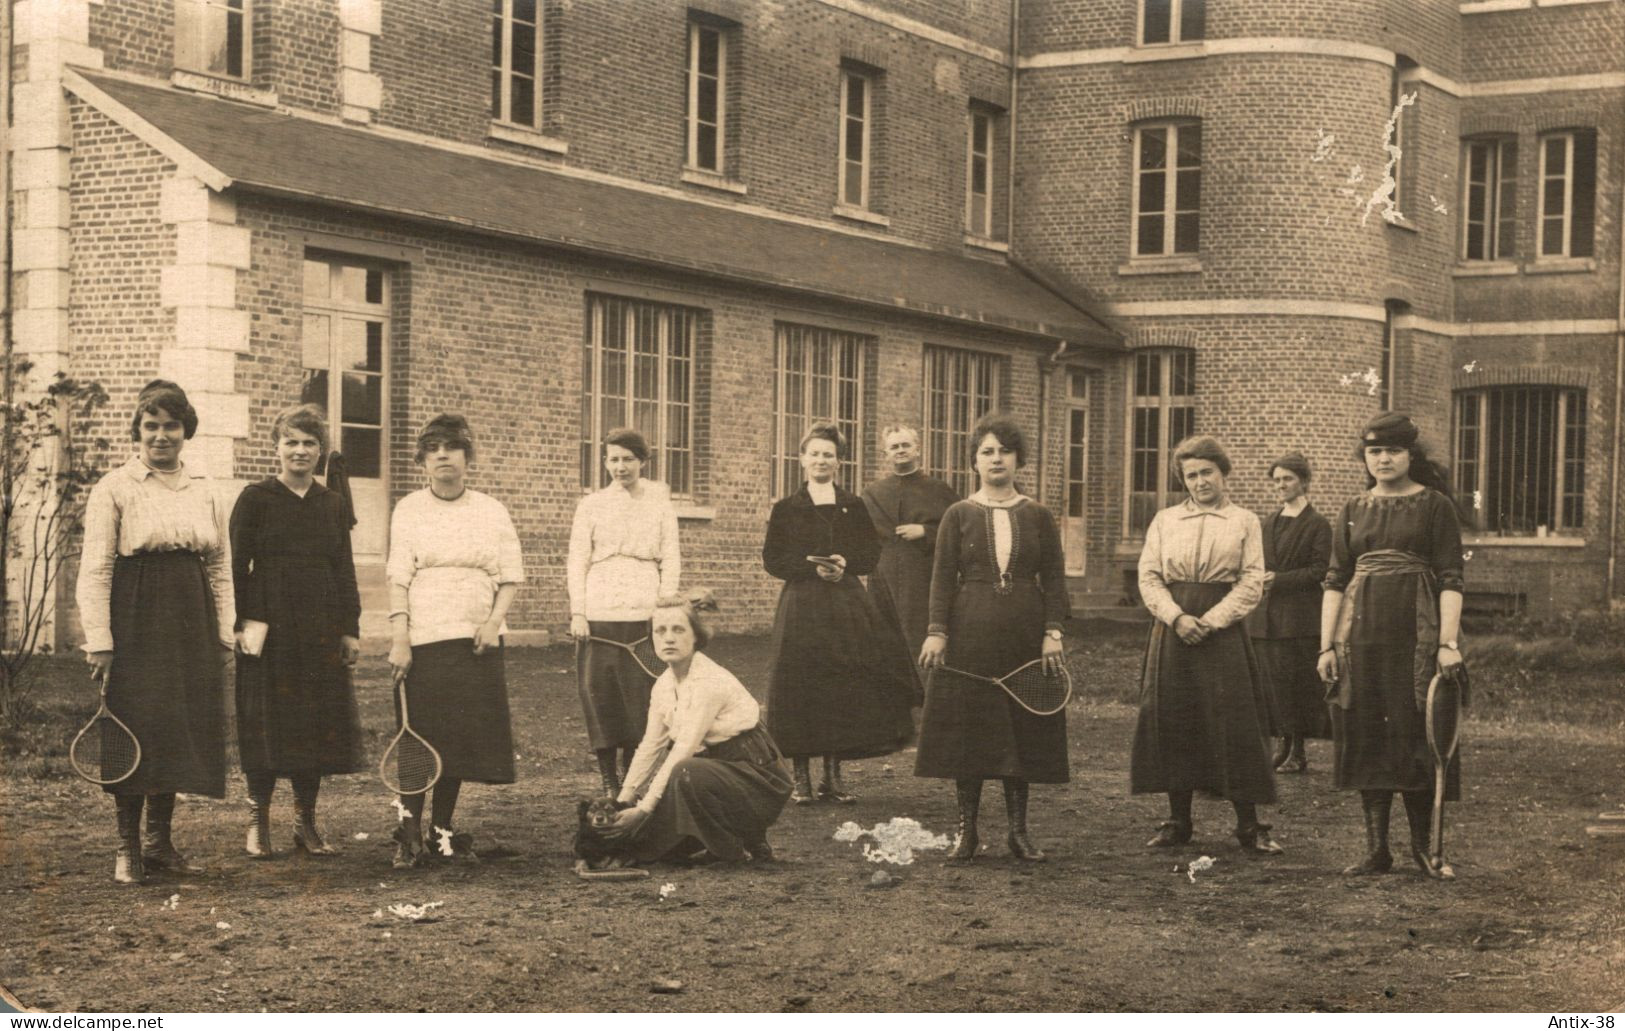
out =
[[[1360,433],[1370,488],[1342,506],[1321,607],[1321,680],[1332,685],[1332,784],[1360,792],[1365,859],[1344,873],[1384,873],[1394,792],[1404,795],[1410,857],[1430,862],[1433,758],[1424,703],[1435,672],[1461,663],[1461,524],[1445,473],[1417,442],[1415,423],[1384,411]],[[1461,758],[1445,798],[1461,797]]]

